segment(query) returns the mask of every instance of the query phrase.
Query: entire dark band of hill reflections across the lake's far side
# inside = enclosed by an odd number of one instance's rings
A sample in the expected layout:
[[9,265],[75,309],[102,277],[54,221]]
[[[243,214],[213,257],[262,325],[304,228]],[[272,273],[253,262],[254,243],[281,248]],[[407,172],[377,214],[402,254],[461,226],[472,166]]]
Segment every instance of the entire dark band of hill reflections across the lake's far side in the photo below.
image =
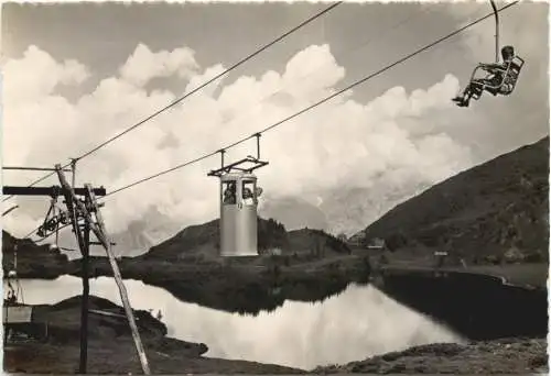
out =
[[[548,267],[543,264],[505,265],[498,270],[501,276],[496,277],[496,266],[487,266],[491,274],[486,269],[482,270],[486,273],[473,273],[468,269],[435,270],[426,266],[408,268],[403,265],[396,265],[395,268],[376,265],[371,268],[365,258],[353,255],[291,266],[273,262],[262,264],[267,261],[224,265],[127,258],[119,264],[125,279],[162,288],[181,301],[230,313],[270,312],[282,307],[287,300],[323,301],[349,284],[357,284],[371,285],[471,340],[533,336],[543,333],[543,329],[547,333],[547,291],[540,286],[526,286],[527,280],[541,279],[541,274],[547,274]],[[89,270],[90,278],[112,277],[106,257],[93,258]],[[80,276],[78,263],[73,263],[66,272],[64,275]],[[519,283],[511,284],[505,277],[507,274]],[[33,278],[34,274],[20,276],[21,279],[29,277]],[[528,285],[538,284],[530,281]],[[465,289],[472,292],[465,294]],[[469,314],[461,313],[465,310]]]

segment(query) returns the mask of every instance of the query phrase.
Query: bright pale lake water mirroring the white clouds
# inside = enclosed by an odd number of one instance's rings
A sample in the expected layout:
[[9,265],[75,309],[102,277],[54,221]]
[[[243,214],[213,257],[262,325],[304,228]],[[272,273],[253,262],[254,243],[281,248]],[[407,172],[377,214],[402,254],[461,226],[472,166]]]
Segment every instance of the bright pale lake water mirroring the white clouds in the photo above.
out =
[[[80,294],[75,277],[23,280],[25,302],[52,303]],[[90,294],[120,305],[115,281],[90,281]],[[272,312],[241,316],[187,303],[168,291],[127,280],[134,309],[161,310],[174,338],[205,343],[207,356],[300,368],[346,363],[411,345],[455,342],[458,336],[370,286],[350,285],[323,302],[285,301]]]

